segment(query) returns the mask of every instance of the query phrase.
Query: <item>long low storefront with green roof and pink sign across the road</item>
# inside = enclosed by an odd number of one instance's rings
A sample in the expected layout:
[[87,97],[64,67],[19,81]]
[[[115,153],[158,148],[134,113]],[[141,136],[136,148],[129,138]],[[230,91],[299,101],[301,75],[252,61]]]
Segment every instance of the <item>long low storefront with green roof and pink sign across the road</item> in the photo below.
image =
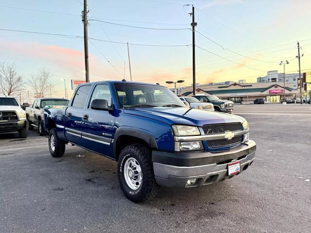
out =
[[[234,103],[253,102],[256,99],[264,99],[267,102],[279,102],[284,98],[294,99],[298,91],[293,88],[293,83],[288,83],[283,88],[283,82],[275,83],[232,83],[229,85],[199,85],[196,94],[216,95],[223,100],[231,100]],[[182,88],[182,96],[192,96],[192,87]],[[183,90],[185,89],[185,90]],[[187,91],[190,89],[189,91]]]

